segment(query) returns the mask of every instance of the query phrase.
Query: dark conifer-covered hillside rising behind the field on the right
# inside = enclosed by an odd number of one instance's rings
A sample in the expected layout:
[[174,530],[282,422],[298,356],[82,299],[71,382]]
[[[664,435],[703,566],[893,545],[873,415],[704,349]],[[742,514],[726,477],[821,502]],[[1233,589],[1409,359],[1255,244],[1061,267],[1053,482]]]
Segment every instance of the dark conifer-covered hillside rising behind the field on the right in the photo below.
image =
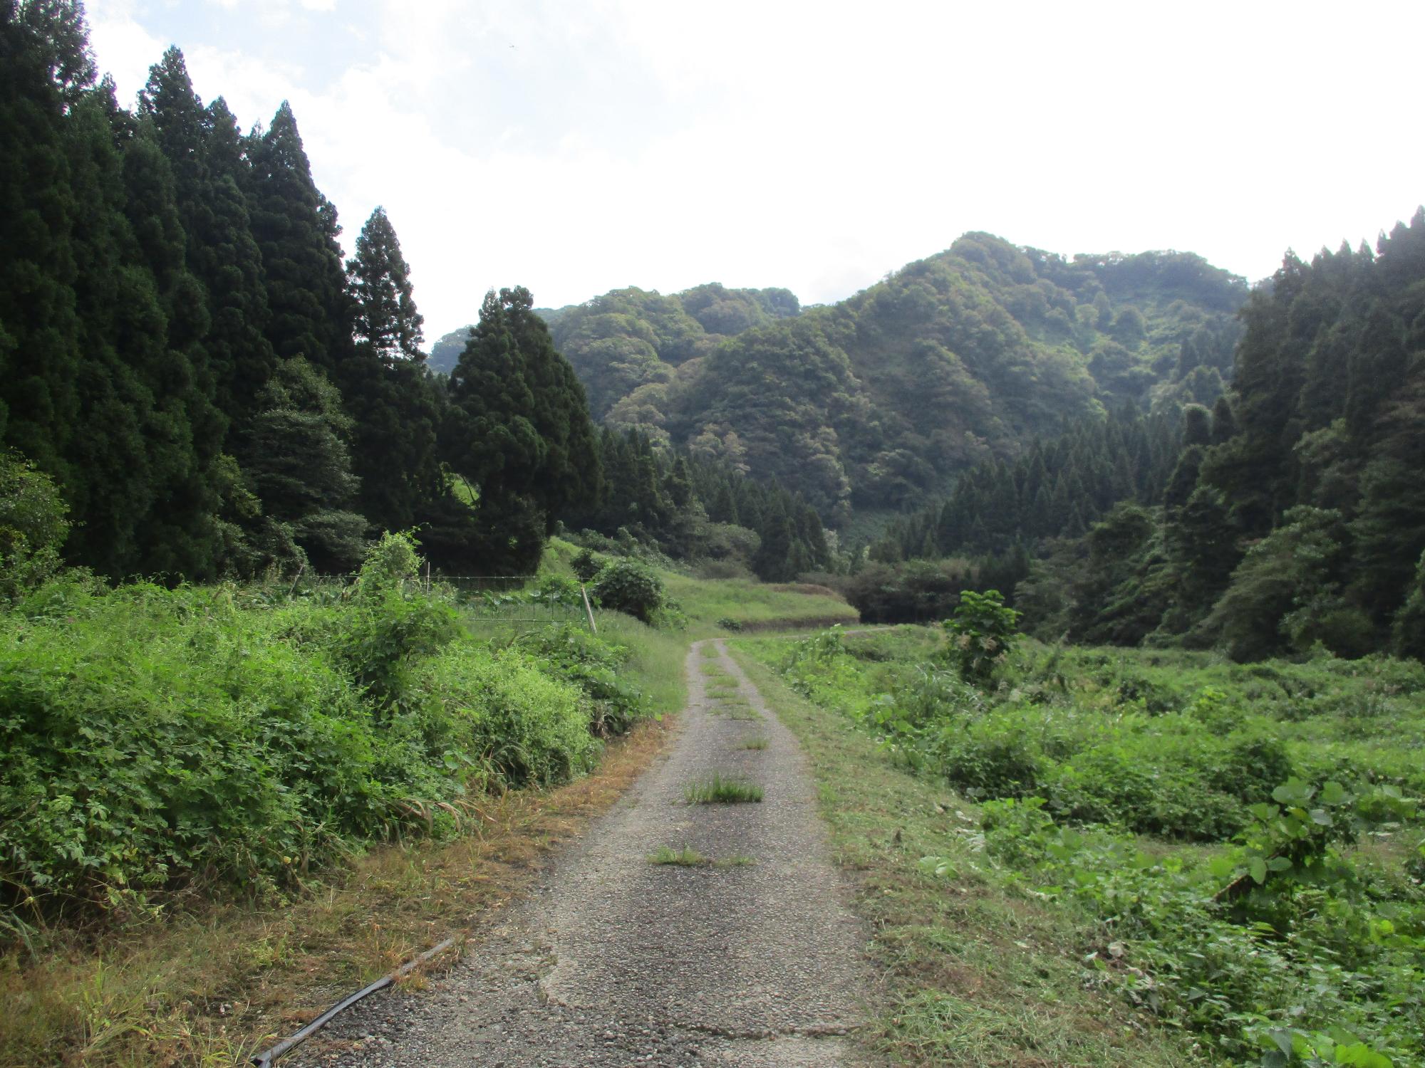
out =
[[1421,656],[1425,211],[1374,251],[1288,253],[1241,319],[1211,412],[1126,410],[980,464],[872,555],[1036,555],[1020,607],[1076,641]]

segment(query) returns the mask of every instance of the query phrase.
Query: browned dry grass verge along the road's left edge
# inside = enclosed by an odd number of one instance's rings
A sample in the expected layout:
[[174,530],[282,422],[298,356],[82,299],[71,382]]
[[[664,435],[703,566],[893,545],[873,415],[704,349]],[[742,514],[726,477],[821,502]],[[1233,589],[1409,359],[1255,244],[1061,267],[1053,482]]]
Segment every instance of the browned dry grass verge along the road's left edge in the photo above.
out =
[[668,736],[667,722],[640,725],[594,775],[487,799],[466,836],[375,849],[296,901],[71,934],[38,960],[14,950],[0,957],[0,1068],[242,1061],[420,950],[490,923]]

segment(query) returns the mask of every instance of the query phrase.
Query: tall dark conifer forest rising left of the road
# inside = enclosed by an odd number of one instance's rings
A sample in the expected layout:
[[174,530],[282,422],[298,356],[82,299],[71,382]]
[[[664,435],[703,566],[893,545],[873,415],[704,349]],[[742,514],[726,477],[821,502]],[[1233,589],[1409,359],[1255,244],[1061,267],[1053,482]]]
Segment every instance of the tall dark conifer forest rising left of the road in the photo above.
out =
[[[446,570],[522,574],[577,517],[674,551],[711,540],[767,575],[828,565],[819,518],[785,491],[738,484],[751,527],[708,531],[685,460],[600,441],[519,286],[486,295],[433,373],[390,219],[378,208],[343,262],[286,104],[242,132],[170,48],[127,111],[77,3],[0,16],[0,444],[7,477],[58,486],[68,562],[172,581],[351,571],[382,530],[418,528]],[[737,318],[717,295],[703,313]],[[653,483],[626,446],[660,466]],[[782,538],[784,521],[809,533]]]

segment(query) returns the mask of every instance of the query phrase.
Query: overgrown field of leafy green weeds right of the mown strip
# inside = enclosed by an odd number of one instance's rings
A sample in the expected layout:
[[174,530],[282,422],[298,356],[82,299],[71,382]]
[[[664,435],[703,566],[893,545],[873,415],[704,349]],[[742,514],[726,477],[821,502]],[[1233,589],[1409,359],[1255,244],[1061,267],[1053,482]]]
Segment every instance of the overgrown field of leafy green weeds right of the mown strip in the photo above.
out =
[[1084,983],[1211,1059],[1425,1064],[1419,664],[1026,642],[970,685],[936,629],[744,648],[956,789],[923,874],[1073,917]]

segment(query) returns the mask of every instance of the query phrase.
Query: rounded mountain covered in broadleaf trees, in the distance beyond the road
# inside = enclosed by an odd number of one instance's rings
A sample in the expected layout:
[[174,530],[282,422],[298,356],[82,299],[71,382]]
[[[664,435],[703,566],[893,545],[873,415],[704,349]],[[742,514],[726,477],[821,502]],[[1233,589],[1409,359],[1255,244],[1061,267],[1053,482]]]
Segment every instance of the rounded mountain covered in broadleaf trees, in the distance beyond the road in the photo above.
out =
[[621,289],[546,313],[596,419],[802,493],[903,508],[1124,400],[1211,404],[1243,279],[1176,252],[1062,256],[968,234],[829,308]]

